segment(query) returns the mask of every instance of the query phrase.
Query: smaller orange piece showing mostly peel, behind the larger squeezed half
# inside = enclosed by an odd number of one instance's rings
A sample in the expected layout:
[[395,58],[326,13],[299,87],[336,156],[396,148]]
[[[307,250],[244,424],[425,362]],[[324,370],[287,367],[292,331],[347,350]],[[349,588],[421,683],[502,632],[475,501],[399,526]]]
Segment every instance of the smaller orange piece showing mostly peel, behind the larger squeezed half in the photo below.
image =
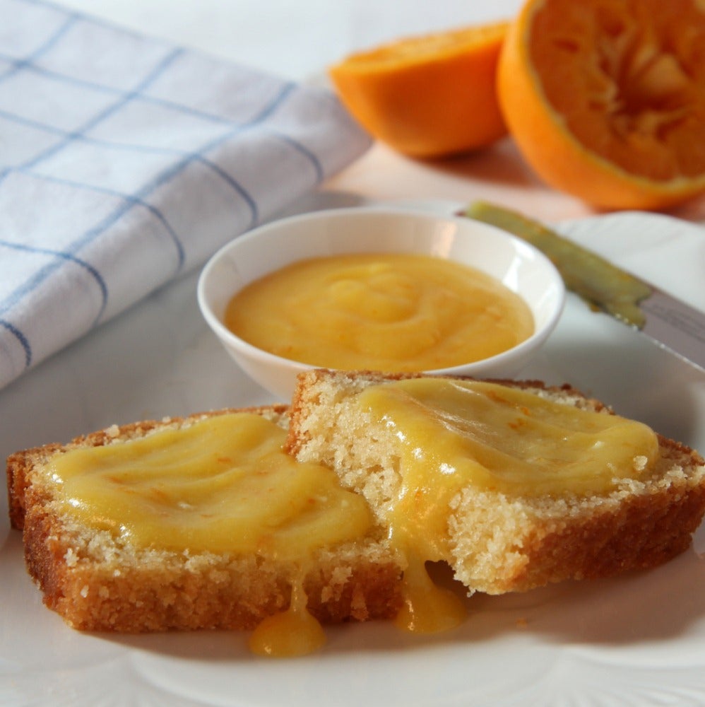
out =
[[394,149],[422,158],[475,150],[506,134],[495,79],[507,27],[408,37],[328,74],[353,117]]

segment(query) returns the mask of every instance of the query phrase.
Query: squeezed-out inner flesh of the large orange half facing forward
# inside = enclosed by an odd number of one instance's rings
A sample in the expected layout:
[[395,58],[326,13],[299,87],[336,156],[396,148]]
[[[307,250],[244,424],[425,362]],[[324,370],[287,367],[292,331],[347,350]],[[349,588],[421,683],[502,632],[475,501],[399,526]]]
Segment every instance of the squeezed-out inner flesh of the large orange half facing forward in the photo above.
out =
[[696,2],[545,0],[528,47],[548,102],[581,144],[650,180],[702,175],[705,11]]

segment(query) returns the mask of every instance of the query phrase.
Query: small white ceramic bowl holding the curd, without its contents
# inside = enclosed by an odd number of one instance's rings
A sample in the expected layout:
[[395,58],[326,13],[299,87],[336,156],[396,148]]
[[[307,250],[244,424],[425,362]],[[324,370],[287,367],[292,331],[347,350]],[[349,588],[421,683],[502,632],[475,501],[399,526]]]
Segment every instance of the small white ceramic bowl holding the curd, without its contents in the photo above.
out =
[[353,252],[414,252],[448,258],[496,277],[533,312],[531,337],[502,354],[432,373],[516,375],[547,339],[562,312],[565,289],[553,264],[533,246],[469,218],[433,216],[401,209],[314,211],[283,218],[241,235],[208,261],[198,298],[208,325],[253,380],[288,400],[298,373],[314,366],[257,349],[223,324],[230,298],[261,276],[300,259]]

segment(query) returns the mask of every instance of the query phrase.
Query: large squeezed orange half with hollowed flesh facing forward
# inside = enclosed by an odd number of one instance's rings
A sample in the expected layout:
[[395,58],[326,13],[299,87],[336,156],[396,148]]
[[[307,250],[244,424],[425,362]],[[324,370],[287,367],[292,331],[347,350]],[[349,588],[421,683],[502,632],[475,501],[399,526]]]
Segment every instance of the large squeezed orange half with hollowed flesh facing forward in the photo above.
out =
[[528,0],[497,90],[521,153],[557,189],[606,209],[705,191],[699,0]]

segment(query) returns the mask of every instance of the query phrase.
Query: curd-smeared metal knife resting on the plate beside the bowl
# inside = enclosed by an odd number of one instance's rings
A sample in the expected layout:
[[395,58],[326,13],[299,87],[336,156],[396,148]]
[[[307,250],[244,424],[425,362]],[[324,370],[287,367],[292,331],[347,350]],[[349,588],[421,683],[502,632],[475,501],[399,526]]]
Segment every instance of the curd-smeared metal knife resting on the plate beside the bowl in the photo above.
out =
[[476,201],[459,215],[490,223],[531,243],[557,267],[566,288],[592,308],[638,329],[661,348],[705,372],[705,312],[516,211]]

